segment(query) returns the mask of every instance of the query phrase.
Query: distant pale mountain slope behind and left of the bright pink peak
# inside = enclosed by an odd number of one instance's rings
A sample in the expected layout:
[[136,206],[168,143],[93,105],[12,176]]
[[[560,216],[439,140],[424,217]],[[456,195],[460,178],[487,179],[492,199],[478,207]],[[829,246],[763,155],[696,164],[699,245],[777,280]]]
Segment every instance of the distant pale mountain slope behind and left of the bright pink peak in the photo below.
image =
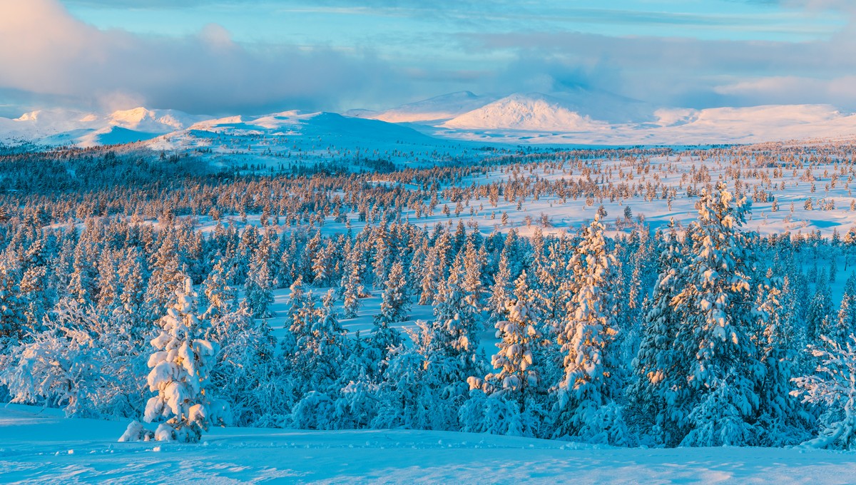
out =
[[382,111],[351,109],[345,115],[390,123],[431,123],[450,120],[467,111],[481,108],[495,99],[493,96],[476,96],[472,92],[461,91]]

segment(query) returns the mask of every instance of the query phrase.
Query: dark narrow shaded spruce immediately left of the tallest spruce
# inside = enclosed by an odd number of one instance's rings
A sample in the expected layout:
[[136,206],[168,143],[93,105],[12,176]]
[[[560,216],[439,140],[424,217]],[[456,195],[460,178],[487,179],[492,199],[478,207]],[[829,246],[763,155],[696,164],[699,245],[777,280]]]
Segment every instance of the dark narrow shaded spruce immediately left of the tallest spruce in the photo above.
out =
[[683,322],[671,302],[684,285],[682,269],[687,255],[674,220],[669,222],[669,233],[660,234],[659,239],[660,275],[645,312],[629,394],[643,435],[651,435],[653,444],[675,447],[685,435],[689,415],[689,360],[675,346]]

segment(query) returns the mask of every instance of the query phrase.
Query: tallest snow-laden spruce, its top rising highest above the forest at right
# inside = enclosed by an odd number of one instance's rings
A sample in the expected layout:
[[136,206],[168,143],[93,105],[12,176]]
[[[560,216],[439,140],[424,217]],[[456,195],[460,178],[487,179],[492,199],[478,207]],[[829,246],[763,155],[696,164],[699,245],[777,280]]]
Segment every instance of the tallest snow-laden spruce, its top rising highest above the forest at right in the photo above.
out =
[[758,325],[750,286],[751,265],[740,226],[750,202],[735,199],[724,182],[704,190],[698,221],[688,231],[691,260],[683,289],[671,305],[684,322],[675,339],[689,361],[687,435],[681,446],[750,445],[758,412]]

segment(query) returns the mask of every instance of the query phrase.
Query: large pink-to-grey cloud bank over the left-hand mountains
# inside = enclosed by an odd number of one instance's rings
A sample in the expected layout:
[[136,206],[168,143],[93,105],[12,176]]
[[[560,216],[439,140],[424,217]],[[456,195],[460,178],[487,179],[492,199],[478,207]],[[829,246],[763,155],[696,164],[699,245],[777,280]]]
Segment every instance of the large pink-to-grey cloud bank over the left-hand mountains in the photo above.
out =
[[371,53],[246,47],[213,24],[182,38],[104,31],[54,0],[0,0],[0,66],[0,90],[107,109],[331,109],[401,86]]

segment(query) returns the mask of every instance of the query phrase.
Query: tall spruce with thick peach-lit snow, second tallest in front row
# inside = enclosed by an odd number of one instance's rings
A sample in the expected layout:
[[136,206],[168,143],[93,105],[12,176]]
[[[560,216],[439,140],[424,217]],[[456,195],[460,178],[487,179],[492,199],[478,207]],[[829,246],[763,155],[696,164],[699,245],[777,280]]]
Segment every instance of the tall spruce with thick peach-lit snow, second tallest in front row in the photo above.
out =
[[618,329],[612,315],[609,271],[615,258],[606,247],[603,224],[596,217],[583,229],[572,271],[568,316],[558,343],[565,375],[555,389],[556,438],[627,444],[623,407],[618,404],[621,370],[613,355]]

